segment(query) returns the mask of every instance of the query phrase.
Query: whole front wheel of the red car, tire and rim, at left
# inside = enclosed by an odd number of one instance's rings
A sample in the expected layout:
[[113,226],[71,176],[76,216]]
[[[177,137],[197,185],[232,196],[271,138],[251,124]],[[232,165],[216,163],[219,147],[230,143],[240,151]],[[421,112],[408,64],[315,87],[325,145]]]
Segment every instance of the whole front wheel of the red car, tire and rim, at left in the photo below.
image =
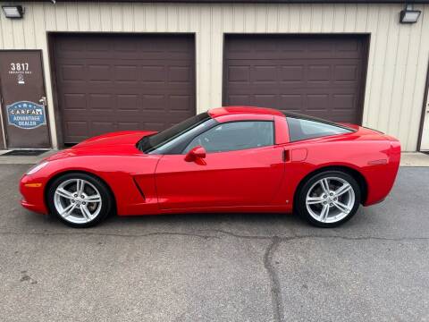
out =
[[110,213],[112,197],[104,182],[88,174],[64,174],[47,192],[51,213],[76,228],[97,225]]

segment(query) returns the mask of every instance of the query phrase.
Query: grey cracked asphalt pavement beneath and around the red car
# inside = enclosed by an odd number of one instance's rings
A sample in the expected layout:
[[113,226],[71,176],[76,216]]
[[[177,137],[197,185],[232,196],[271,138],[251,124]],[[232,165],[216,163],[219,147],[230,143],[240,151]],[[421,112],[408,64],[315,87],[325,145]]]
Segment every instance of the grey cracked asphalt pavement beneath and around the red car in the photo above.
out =
[[270,214],[110,218],[24,210],[0,165],[2,321],[429,321],[429,168],[336,229]]

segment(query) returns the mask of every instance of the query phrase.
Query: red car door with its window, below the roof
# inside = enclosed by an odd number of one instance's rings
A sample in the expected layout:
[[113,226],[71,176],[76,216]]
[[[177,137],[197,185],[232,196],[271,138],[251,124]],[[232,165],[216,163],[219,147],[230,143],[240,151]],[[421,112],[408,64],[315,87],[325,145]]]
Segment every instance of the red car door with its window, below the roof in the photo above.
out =
[[[283,148],[273,122],[221,123],[198,135],[181,155],[164,155],[156,167],[161,209],[268,205],[284,171]],[[206,157],[185,160],[191,148]]]

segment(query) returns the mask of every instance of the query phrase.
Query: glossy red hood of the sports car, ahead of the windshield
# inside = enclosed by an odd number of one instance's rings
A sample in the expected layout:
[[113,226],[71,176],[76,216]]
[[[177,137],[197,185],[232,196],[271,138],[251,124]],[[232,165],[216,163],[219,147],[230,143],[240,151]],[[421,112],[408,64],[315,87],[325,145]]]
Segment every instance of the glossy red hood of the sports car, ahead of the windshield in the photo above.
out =
[[84,140],[72,148],[64,149],[46,160],[52,161],[63,157],[96,155],[141,155],[136,143],[143,137],[156,131],[116,131]]

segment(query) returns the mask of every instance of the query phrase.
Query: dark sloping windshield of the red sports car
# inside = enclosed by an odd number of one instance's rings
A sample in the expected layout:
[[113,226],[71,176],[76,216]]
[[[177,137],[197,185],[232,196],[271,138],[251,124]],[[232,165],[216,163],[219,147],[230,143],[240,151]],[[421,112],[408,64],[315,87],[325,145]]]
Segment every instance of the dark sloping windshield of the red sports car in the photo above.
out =
[[170,140],[177,138],[182,133],[198,126],[198,124],[204,123],[208,119],[210,119],[210,116],[207,113],[201,113],[190,117],[189,119],[176,125],[173,125],[171,128],[168,128],[164,131],[160,131],[159,133],[143,137],[137,143],[137,148],[139,148],[145,153],[150,152],[164,145]]

